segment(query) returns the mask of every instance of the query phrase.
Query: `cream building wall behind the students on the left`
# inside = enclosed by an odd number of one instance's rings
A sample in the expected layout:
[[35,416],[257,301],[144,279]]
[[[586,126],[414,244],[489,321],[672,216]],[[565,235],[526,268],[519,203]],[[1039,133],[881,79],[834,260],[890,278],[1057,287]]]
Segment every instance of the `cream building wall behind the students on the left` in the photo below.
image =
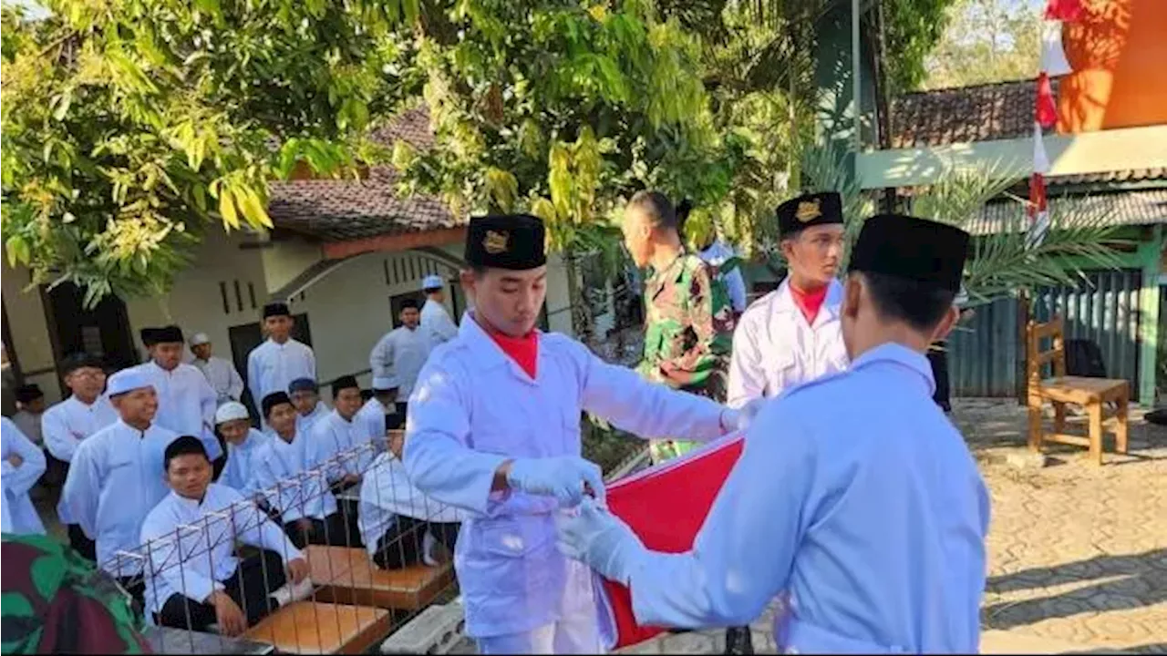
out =
[[[216,355],[231,358],[229,330],[260,320],[270,277],[265,264],[273,264],[272,252],[240,247],[245,243],[254,244],[256,239],[240,232],[210,230],[195,254],[194,266],[177,275],[168,294],[126,302],[133,341],[141,355],[145,349],[138,335],[142,327],[176,323],[188,339],[195,333],[207,333]],[[452,244],[442,250],[461,258],[464,245]],[[392,327],[390,299],[419,291],[421,279],[431,273],[456,280],[454,268],[418,251],[369,253],[342,264],[288,299],[293,313],[308,314],[320,381],[359,372],[358,381],[370,384],[369,351]],[[0,264],[0,291],[7,306],[13,350],[22,371],[34,372],[26,376],[27,382],[39,383],[49,400],[55,402],[60,390],[44,307],[39,291],[22,291],[27,284],[27,271],[13,271]],[[448,287],[446,305],[452,312]],[[551,330],[571,335],[567,277],[558,256],[548,261],[546,305]]]

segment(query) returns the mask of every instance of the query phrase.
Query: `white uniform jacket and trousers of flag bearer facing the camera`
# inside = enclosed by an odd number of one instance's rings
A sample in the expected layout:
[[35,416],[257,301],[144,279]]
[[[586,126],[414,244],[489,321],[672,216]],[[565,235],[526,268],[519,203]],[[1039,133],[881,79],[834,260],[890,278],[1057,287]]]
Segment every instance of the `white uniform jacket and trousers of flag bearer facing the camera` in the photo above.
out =
[[540,333],[538,340],[531,379],[468,314],[457,337],[434,349],[410,397],[410,481],[473,515],[459,533],[455,557],[471,637],[527,631],[594,612],[591,570],[555,549],[555,500],[491,494],[499,465],[579,456],[585,410],[650,439],[708,440],[722,432],[717,403],[648,383],[564,335]]

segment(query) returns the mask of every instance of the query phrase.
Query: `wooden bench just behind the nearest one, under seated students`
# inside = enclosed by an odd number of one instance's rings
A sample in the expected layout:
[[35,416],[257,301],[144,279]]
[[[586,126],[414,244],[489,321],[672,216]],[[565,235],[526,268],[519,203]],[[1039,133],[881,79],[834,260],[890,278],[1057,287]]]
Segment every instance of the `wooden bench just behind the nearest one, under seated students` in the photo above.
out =
[[448,564],[382,570],[364,549],[317,546],[305,550],[316,599],[334,603],[418,610],[428,606],[454,580]]

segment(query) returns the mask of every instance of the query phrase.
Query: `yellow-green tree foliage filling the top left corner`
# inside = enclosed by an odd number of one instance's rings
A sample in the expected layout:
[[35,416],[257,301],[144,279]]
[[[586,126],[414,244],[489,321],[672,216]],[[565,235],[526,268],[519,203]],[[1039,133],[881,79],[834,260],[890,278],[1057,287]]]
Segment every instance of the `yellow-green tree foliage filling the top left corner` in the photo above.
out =
[[208,225],[271,225],[267,182],[372,159],[385,35],[413,0],[50,0],[0,9],[0,240],[88,302],[165,291]]

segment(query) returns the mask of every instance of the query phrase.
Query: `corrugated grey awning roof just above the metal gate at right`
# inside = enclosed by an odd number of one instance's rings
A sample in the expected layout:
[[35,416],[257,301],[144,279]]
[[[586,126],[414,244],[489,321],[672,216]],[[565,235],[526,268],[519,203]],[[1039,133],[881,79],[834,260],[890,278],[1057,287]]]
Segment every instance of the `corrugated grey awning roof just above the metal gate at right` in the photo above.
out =
[[[1053,215],[1068,217],[1071,209],[1075,217],[1098,221],[1107,225],[1153,225],[1167,223],[1167,189],[1116,191],[1090,196],[1050,196]],[[972,219],[966,229],[973,235],[988,235],[1027,225],[1021,221],[1025,205],[1018,201],[999,201],[986,204],[981,215]]]

